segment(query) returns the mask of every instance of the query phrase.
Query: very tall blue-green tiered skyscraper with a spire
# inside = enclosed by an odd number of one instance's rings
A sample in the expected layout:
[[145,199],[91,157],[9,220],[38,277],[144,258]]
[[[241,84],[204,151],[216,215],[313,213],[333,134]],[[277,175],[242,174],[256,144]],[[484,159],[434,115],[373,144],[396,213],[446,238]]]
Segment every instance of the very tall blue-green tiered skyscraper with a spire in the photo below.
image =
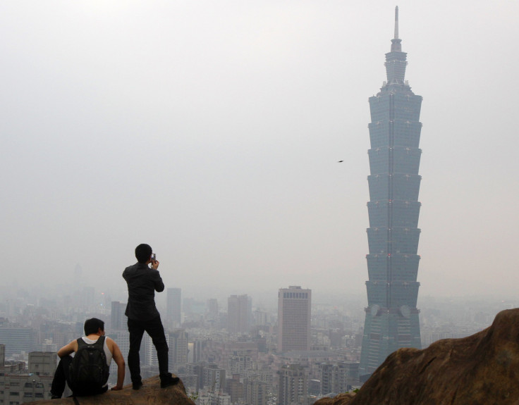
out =
[[398,38],[397,7],[395,35],[386,54],[387,82],[370,97],[370,253],[366,256],[369,280],[360,356],[362,380],[396,349],[421,347],[416,302],[422,97],[404,80],[406,56]]

